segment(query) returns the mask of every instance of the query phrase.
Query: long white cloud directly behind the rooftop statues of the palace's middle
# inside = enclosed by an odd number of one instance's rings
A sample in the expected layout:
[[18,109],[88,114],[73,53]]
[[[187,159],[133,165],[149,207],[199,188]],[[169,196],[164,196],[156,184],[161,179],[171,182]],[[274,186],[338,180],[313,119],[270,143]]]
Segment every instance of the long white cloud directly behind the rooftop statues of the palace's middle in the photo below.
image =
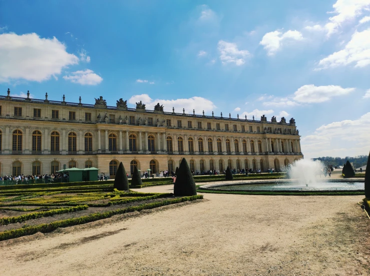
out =
[[164,100],[164,99],[155,99],[153,100],[149,97],[148,94],[142,95],[134,95],[132,96],[128,102],[131,104],[135,104],[136,102],[142,101],[144,104],[147,104],[147,109],[153,109],[154,105],[158,102],[163,104],[164,111],[172,112],[172,107],[175,108],[176,113],[182,113],[182,109],[185,108],[185,112],[192,114],[193,109],[195,109],[196,114],[202,114],[204,112],[211,112],[215,108],[217,108],[214,103],[208,99],[202,97],[191,97],[188,99],[175,99],[175,100]]

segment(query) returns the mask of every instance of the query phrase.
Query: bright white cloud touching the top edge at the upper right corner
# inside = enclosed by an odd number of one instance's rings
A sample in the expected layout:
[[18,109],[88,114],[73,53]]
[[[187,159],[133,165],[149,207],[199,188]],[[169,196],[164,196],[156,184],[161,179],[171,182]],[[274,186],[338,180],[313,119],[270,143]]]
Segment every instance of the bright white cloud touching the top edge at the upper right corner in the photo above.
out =
[[362,11],[368,10],[370,0],[337,0],[333,4],[334,10],[328,13],[336,13],[329,17],[329,22],[325,24],[327,35],[330,36],[346,21],[351,21],[362,14]]

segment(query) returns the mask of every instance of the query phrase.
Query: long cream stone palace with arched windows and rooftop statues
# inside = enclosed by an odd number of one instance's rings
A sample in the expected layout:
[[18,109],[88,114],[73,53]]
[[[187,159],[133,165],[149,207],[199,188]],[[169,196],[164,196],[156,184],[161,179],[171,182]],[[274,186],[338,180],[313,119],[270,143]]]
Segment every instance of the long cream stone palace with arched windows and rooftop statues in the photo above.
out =
[[164,112],[117,100],[108,106],[0,96],[0,175],[51,174],[96,167],[114,177],[122,161],[133,173],[174,171],[183,157],[199,174],[208,170],[274,168],[303,158],[295,121]]

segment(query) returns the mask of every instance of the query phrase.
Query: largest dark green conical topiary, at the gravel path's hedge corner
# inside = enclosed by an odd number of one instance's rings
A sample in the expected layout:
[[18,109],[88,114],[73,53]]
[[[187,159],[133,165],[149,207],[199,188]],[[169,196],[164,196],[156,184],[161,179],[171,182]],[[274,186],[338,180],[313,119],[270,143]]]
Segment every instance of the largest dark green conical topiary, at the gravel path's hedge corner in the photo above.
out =
[[176,197],[197,195],[194,178],[185,158],[182,159],[180,168],[177,170],[176,182],[173,186],[173,194]]

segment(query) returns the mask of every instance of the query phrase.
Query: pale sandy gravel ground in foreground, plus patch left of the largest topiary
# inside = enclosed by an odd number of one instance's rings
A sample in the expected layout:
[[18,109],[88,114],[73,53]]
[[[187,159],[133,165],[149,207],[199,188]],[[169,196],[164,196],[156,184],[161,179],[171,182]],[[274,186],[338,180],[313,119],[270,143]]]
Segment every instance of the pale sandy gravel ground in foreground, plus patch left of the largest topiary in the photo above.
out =
[[370,220],[357,205],[361,196],[204,198],[2,242],[0,275],[370,275]]

